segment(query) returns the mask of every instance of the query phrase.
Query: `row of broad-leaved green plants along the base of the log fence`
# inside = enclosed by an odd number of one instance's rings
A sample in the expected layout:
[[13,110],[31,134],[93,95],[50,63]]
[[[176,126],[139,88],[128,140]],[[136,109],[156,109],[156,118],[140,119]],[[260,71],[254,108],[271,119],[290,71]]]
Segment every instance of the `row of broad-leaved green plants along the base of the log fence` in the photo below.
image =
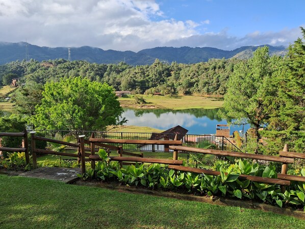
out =
[[[111,164],[114,163],[114,164]],[[117,162],[98,162],[96,170],[88,170],[85,179],[101,181],[117,180],[128,186],[144,186],[151,189],[187,191],[214,196],[227,196],[239,199],[260,200],[271,205],[305,206],[305,183],[292,182],[281,192],[281,186],[240,180],[240,174],[276,178],[277,173],[273,166],[261,166],[248,161],[238,160],[235,164],[220,167],[220,175],[212,176],[191,172],[181,172],[161,167],[160,164],[136,164],[120,168]],[[300,172],[305,175],[305,169]]]

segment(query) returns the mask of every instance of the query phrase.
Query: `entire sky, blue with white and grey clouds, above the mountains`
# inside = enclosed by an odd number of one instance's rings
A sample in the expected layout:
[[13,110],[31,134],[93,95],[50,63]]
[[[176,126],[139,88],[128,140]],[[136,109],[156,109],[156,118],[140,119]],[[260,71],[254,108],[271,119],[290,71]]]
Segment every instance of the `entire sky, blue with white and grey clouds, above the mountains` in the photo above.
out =
[[0,41],[132,50],[288,46],[304,0],[0,0]]

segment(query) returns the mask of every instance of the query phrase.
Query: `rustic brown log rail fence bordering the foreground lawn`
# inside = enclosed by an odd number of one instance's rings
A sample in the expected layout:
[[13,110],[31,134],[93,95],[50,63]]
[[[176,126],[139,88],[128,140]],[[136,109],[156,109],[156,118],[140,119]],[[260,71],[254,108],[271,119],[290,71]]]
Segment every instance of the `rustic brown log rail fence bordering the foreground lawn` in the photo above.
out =
[[[253,175],[245,175],[240,174],[239,178],[243,180],[250,180],[261,183],[268,184],[278,184],[282,185],[282,191],[285,190],[284,186],[290,185],[290,181],[298,181],[305,182],[304,176],[295,176],[288,175],[287,168],[288,164],[294,163],[295,159],[305,159],[305,154],[290,152],[288,150],[287,144],[285,145],[283,151],[279,151],[279,156],[266,156],[266,155],[255,155],[255,154],[245,154],[243,152],[232,152],[232,151],[223,151],[223,150],[215,150],[215,149],[202,149],[196,147],[182,146],[182,141],[176,140],[134,140],[134,139],[104,139],[104,138],[95,138],[94,133],[91,135],[89,140],[85,139],[85,135],[79,136],[79,144],[64,142],[60,140],[39,137],[36,136],[36,132],[31,133],[31,146],[32,146],[32,158],[33,158],[33,168],[37,168],[37,154],[50,154],[50,155],[61,155],[61,156],[69,156],[76,157],[81,162],[82,173],[86,172],[85,162],[91,162],[91,167],[95,168],[95,161],[102,160],[98,155],[95,154],[99,150],[99,147],[106,148],[108,154],[110,150],[116,150],[118,153],[118,157],[109,157],[111,161],[118,161],[122,166],[123,163],[160,163],[167,164],[170,169],[186,171],[186,172],[195,172],[195,173],[205,173],[209,175],[220,175],[219,171],[213,171],[208,169],[200,169],[182,166],[183,161],[177,160],[179,152],[195,152],[198,154],[212,154],[216,156],[229,156],[235,158],[246,158],[253,160],[263,160],[263,161],[271,161],[271,162],[279,162],[282,163],[282,171],[277,174],[277,179],[272,179],[269,177],[260,177]],[[26,162],[27,164],[30,162],[29,159],[29,149],[28,149],[28,133],[25,130],[21,133],[0,133],[1,136],[9,136],[9,137],[23,137],[24,147],[22,148],[7,148],[0,147],[0,150],[4,151],[19,151],[26,153]],[[46,141],[46,142],[54,142],[62,145],[72,146],[78,149],[78,154],[71,154],[67,152],[57,152],[54,150],[48,149],[38,149],[36,148],[36,140]],[[173,159],[155,159],[155,158],[143,158],[143,154],[134,154],[133,152],[128,152],[123,150],[122,146],[114,146],[111,144],[151,144],[151,145],[168,145],[169,149],[173,150]],[[90,147],[85,147],[88,145]],[[90,153],[88,153],[90,152]],[[125,157],[124,155],[130,156]]]

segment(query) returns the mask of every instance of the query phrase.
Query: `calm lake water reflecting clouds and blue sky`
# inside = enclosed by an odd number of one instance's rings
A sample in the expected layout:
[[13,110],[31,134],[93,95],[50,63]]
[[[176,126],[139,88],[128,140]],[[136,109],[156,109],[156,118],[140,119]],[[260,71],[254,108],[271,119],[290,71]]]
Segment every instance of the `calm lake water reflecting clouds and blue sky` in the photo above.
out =
[[[124,109],[122,117],[128,119],[126,125],[149,126],[167,130],[181,125],[189,130],[188,134],[216,134],[216,124],[226,124],[217,115],[217,109],[187,109],[187,110],[132,110]],[[243,126],[231,125],[230,133],[240,131]],[[244,131],[249,125],[244,126]]]

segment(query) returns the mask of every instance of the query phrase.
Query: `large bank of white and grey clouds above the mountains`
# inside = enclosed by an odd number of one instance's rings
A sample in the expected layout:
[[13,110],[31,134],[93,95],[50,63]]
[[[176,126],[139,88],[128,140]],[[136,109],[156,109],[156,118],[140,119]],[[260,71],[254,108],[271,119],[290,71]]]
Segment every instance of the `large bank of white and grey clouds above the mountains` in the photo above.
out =
[[156,46],[233,49],[287,45],[300,36],[298,28],[257,31],[244,37],[232,36],[226,30],[202,33],[198,27],[210,24],[210,20],[165,18],[153,0],[0,0],[0,41],[27,39],[40,46],[89,45],[138,51]]

